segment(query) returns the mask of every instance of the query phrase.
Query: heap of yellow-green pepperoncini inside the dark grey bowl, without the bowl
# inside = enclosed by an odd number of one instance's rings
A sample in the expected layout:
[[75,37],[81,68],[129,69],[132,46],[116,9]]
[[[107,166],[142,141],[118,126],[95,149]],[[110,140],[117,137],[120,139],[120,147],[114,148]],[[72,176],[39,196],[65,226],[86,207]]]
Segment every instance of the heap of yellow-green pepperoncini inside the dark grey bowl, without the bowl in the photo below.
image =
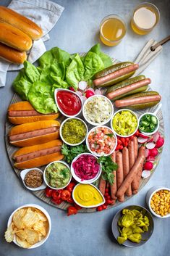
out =
[[142,211],[124,209],[117,224],[119,244],[124,244],[127,239],[138,244],[143,239],[142,234],[148,231],[149,219]]

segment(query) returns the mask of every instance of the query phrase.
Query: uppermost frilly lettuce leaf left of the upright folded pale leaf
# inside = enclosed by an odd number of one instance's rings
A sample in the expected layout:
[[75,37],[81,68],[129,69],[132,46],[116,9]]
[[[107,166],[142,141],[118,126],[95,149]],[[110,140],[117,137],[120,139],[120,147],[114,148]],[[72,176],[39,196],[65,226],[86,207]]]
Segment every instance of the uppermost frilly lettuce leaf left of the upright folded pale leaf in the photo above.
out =
[[38,63],[41,68],[46,67],[47,65],[56,63],[64,63],[64,65],[67,67],[69,63],[71,62],[70,54],[67,51],[63,51],[59,49],[58,47],[54,47],[49,51],[46,51],[39,59]]

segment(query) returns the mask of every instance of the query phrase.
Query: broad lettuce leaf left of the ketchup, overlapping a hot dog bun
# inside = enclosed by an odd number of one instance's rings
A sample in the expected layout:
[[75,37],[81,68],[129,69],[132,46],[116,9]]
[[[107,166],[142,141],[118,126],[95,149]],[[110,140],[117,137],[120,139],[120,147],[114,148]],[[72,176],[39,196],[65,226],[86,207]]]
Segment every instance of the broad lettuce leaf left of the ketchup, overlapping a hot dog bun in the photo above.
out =
[[41,81],[36,81],[28,92],[30,104],[40,113],[49,114],[58,112],[54,101],[52,87]]

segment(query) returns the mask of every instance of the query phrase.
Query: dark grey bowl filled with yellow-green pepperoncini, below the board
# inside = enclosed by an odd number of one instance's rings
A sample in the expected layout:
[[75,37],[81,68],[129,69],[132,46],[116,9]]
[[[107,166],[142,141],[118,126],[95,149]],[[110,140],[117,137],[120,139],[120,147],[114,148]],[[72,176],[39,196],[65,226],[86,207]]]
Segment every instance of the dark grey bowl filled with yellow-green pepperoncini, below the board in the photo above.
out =
[[145,244],[153,234],[153,217],[140,205],[129,205],[116,213],[111,230],[119,244],[138,247]]

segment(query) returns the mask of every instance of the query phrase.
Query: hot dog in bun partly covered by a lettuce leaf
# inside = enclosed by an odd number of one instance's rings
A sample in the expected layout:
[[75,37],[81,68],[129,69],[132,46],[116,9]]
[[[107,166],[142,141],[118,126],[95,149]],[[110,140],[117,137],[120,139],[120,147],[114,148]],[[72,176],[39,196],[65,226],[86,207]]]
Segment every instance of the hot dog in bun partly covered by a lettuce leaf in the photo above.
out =
[[17,102],[11,104],[8,109],[8,119],[14,125],[32,123],[41,120],[55,120],[59,113],[41,114],[31,106],[29,102]]

